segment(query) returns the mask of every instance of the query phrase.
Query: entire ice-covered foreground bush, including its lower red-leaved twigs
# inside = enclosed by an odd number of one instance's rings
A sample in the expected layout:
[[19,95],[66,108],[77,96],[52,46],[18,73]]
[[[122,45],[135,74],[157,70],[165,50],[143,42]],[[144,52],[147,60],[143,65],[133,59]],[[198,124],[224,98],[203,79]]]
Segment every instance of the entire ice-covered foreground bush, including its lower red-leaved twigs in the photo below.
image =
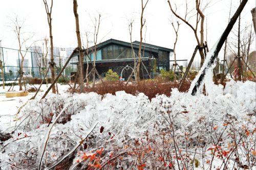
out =
[[[151,101],[142,93],[135,96],[124,91],[103,98],[86,93],[53,94],[40,103],[34,100],[17,122],[26,128],[17,128],[13,138],[1,145],[0,160],[7,162],[2,167],[35,167],[53,120],[70,103],[72,107],[63,114],[81,104],[84,107],[66,123],[61,122],[62,116],[57,120],[46,142],[42,167],[250,168],[256,154],[252,88],[253,82],[229,82],[222,94],[212,96],[173,89],[170,97],[158,95]],[[48,110],[49,114],[53,108],[57,111],[52,123],[40,123],[41,113]]]

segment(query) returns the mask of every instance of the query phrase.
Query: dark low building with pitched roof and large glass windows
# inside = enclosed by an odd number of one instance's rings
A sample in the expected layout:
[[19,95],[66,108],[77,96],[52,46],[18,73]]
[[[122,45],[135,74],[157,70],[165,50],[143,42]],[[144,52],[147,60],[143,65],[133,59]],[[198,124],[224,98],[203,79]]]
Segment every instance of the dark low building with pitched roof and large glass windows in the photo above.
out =
[[[137,61],[139,41],[134,41],[132,44],[136,54],[135,60]],[[104,76],[109,69],[116,71],[119,75],[121,75],[122,70],[124,70],[122,72],[122,77],[124,79],[127,79],[131,75],[132,69],[124,69],[126,65],[131,66],[132,68],[134,67],[134,57],[130,42],[109,39],[97,44],[96,46],[96,68],[100,75]],[[91,61],[94,60],[94,46],[90,47],[88,50],[88,57],[84,58],[84,76],[86,75],[86,61],[89,58],[91,58]],[[169,56],[170,53],[173,53],[172,49],[148,43],[142,43],[141,53],[142,63],[140,65],[140,78],[148,78],[148,74],[153,77],[161,69],[169,70]],[[78,59],[78,57],[78,53],[75,53],[73,58]],[[91,61],[89,60],[89,71],[92,69]],[[78,61],[71,63],[78,64]]]

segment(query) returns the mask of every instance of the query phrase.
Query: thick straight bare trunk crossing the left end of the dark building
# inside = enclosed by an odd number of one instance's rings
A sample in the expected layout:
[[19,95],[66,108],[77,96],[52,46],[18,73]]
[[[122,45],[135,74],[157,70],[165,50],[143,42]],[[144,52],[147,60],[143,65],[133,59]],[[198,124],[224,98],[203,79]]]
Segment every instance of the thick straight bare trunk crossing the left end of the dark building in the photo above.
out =
[[83,89],[83,52],[82,52],[82,43],[81,43],[81,36],[79,30],[79,17],[77,13],[77,1],[73,0],[73,11],[76,19],[76,36],[77,36],[77,50],[79,51],[79,83],[80,83],[80,92]]

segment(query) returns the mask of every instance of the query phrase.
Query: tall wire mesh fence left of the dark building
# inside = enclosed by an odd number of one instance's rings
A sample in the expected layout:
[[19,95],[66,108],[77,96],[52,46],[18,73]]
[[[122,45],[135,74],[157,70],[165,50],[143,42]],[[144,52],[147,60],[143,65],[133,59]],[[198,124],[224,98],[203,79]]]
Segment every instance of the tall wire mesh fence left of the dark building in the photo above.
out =
[[[19,51],[13,48],[0,47],[0,61],[2,61],[2,65],[4,68],[4,77],[5,82],[13,81],[18,77],[20,65],[22,61],[22,57],[20,56],[22,53],[24,57],[23,62],[23,72],[26,77],[30,78],[44,78],[45,72],[49,67],[51,54],[44,54],[43,52],[32,52],[32,51]],[[67,54],[68,55],[68,54]],[[69,56],[65,55],[54,55],[54,62],[56,63],[55,74],[58,74],[58,71],[61,67],[66,63],[67,58]],[[44,57],[42,57],[44,56]],[[76,72],[77,65],[71,64],[76,62],[77,58],[72,58],[62,75],[70,78],[71,72]],[[47,77],[51,77],[50,71],[47,74]],[[2,70],[0,69],[0,81],[3,81],[2,78]]]

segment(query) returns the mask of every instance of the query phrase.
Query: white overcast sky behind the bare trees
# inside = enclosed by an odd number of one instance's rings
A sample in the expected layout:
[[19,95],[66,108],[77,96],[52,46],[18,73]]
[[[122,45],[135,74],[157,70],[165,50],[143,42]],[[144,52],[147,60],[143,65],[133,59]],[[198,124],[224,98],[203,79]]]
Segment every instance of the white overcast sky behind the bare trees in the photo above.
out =
[[[194,0],[187,0],[190,9],[195,7]],[[205,0],[206,1],[206,0]],[[209,48],[221,36],[229,15],[231,0],[211,0],[209,7],[204,11],[207,17],[207,41]],[[236,11],[240,0],[232,0],[231,15]],[[183,15],[185,0],[179,0],[178,13]],[[242,12],[242,25],[251,24],[250,10],[255,7],[255,1],[249,0]],[[133,40],[139,40],[141,1],[139,0],[78,0],[78,14],[82,39],[86,42],[84,33],[93,32],[92,19],[100,13],[102,20],[99,30],[99,41],[110,38],[130,42],[129,20],[134,19]],[[191,13],[193,14],[193,13]],[[33,41],[49,36],[47,15],[42,0],[8,0],[0,2],[0,40],[2,46],[18,48],[15,34],[10,28],[10,18],[18,16],[25,20],[23,31],[33,33]],[[58,47],[76,47],[75,17],[72,0],[54,0],[52,12],[53,43]],[[154,45],[173,48],[175,33],[169,20],[172,13],[166,0],[149,0],[145,9],[146,19],[145,41]],[[176,18],[173,17],[175,20]],[[193,17],[190,19],[193,23]],[[190,59],[196,46],[196,39],[191,29],[181,23],[177,42],[177,58]],[[206,23],[206,21],[205,21]],[[194,25],[194,23],[193,23]],[[145,31],[145,29],[144,29]],[[26,34],[25,34],[26,35]],[[206,36],[206,24],[205,24]],[[91,36],[91,41],[93,36]],[[255,41],[255,40],[254,40]],[[255,42],[252,47],[255,49]],[[252,48],[252,50],[254,50]],[[220,56],[221,57],[221,56]],[[15,58],[9,54],[8,61]],[[199,57],[197,56],[199,61]]]

